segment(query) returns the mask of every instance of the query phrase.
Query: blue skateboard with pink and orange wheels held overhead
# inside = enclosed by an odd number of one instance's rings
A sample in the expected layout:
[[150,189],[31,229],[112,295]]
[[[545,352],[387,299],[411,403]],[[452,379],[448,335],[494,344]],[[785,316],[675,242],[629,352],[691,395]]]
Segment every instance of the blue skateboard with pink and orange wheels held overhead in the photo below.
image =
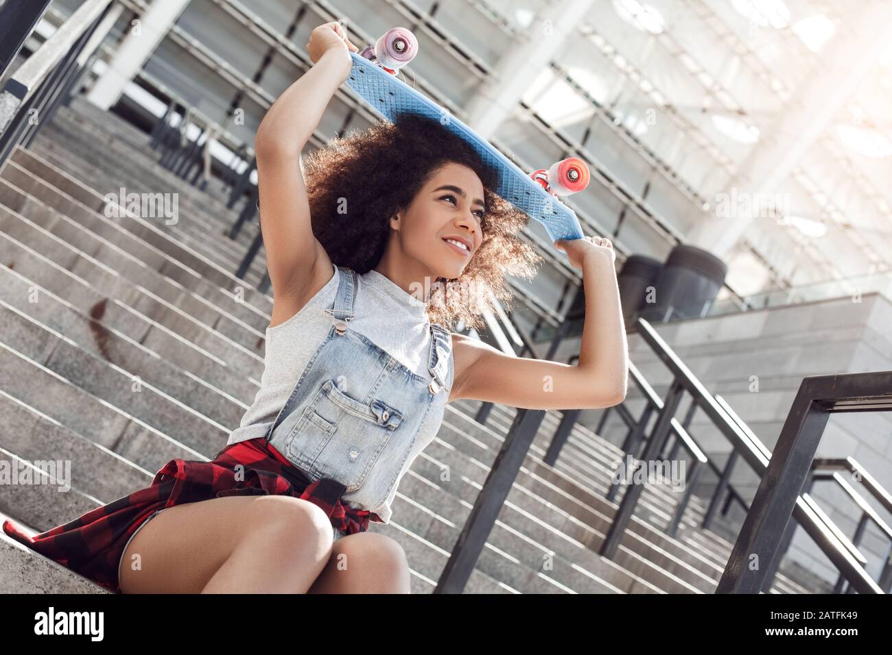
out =
[[412,33],[393,28],[376,45],[351,53],[353,66],[346,84],[384,119],[394,121],[399,114],[409,112],[439,120],[443,127],[473,146],[487,165],[499,171],[499,185],[493,191],[544,225],[553,242],[581,239],[579,219],[573,209],[558,200],[558,195],[580,192],[589,184],[590,172],[585,162],[571,157],[548,169],[524,173],[449,111],[396,78],[396,71],[416,53],[417,41]]

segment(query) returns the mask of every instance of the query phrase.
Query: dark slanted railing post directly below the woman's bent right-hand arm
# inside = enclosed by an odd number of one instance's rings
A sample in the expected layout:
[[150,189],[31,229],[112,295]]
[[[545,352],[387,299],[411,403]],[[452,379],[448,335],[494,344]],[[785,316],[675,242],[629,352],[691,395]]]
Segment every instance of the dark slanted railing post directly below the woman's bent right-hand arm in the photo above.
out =
[[465,589],[544,417],[545,410],[517,410],[474,508],[452,547],[434,594],[461,594]]

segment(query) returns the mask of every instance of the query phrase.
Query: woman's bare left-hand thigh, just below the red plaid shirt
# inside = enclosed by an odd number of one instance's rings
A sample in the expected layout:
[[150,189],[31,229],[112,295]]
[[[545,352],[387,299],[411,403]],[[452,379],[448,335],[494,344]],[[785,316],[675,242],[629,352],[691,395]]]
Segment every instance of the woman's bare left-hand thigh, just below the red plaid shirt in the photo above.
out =
[[284,515],[297,520],[314,512],[322,511],[285,495],[224,496],[169,507],[147,521],[124,551],[121,592],[198,594],[246,536]]

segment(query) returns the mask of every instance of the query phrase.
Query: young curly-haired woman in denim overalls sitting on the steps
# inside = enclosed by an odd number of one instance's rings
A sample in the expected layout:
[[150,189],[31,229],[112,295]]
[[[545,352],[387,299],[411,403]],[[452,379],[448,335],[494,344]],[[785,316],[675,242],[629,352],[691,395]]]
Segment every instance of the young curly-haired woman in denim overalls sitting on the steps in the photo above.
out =
[[[356,51],[314,29],[313,67],[267,112],[255,150],[274,304],[260,390],[210,463],[172,460],[136,491],[37,537],[7,533],[124,593],[409,593],[387,522],[444,405],[608,407],[626,342],[607,239],[556,242],[582,269],[575,366],[502,354],[483,325],[506,274],[534,274],[526,215],[437,121],[403,115],[301,151]],[[158,518],[152,519],[154,516]]]

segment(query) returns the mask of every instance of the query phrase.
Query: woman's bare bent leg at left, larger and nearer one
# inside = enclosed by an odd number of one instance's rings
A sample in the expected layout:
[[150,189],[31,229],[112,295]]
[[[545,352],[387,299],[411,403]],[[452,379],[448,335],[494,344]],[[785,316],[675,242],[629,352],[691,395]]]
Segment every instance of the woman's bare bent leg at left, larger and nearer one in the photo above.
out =
[[292,496],[175,505],[148,521],[128,545],[121,591],[303,594],[325,568],[332,541],[325,512]]

